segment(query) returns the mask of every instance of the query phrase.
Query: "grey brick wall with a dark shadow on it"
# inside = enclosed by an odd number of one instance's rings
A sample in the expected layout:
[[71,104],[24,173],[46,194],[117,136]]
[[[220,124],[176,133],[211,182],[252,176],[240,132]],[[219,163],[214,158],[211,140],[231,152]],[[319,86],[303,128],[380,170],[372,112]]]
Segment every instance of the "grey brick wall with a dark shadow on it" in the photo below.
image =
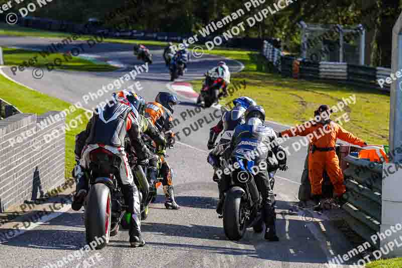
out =
[[54,120],[58,113],[0,121],[0,212],[64,183],[65,122]]

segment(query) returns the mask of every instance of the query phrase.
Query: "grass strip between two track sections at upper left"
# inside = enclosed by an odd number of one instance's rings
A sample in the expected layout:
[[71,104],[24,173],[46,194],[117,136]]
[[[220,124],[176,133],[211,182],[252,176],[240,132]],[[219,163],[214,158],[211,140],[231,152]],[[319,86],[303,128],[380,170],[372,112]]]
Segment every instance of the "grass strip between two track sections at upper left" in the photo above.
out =
[[[46,58],[40,56],[37,51],[25,50],[25,49],[15,49],[15,48],[4,48],[4,64],[9,66],[21,65],[24,61],[29,62],[31,59],[36,57],[37,61],[35,63],[36,68],[47,68],[47,64],[54,66],[55,69],[63,70],[76,70],[76,71],[114,71],[118,67],[106,64],[106,63],[94,63],[87,59],[82,59],[79,57],[64,57],[61,53],[54,53],[48,55]],[[61,59],[61,65],[55,65],[55,59]]]

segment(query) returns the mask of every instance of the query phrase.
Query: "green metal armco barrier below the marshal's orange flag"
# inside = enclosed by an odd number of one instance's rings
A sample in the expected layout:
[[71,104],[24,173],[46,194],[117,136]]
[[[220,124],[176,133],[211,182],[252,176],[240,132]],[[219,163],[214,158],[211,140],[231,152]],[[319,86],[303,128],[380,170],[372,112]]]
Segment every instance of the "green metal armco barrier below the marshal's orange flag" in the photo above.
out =
[[345,221],[354,232],[378,248],[379,243],[372,243],[370,237],[379,232],[381,226],[382,164],[350,155],[343,160],[349,164],[343,171],[347,200],[342,206]]

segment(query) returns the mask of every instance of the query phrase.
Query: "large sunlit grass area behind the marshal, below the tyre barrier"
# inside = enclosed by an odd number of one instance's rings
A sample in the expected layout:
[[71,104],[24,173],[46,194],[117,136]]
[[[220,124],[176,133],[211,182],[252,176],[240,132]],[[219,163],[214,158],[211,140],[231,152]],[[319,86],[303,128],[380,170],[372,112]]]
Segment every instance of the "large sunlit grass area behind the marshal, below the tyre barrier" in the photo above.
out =
[[[370,144],[388,144],[389,95],[376,90],[327,82],[283,78],[280,74],[265,70],[264,60],[258,52],[242,50],[208,51],[209,54],[225,56],[245,65],[240,73],[231,77],[233,84],[246,81],[246,87],[221,100],[226,104],[241,96],[248,96],[262,105],[266,119],[287,125],[303,123],[313,117],[314,110],[322,104],[330,106],[356,95],[356,103],[346,107],[350,121],[342,126]],[[194,90],[200,90],[202,80],[191,81]],[[228,90],[231,88],[229,86]],[[342,116],[338,112],[333,119]]]

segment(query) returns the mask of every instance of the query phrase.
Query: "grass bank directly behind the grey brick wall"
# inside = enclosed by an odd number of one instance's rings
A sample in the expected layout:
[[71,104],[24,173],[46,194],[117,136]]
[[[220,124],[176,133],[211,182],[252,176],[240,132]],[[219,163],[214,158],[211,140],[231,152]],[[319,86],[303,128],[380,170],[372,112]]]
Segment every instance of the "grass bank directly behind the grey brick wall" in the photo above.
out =
[[[57,98],[49,97],[40,92],[32,91],[0,75],[0,97],[6,102],[16,106],[23,113],[36,113],[41,115],[48,111],[62,111],[68,109],[71,104]],[[66,123],[81,115],[83,124],[77,128],[66,131],[65,177],[71,176],[71,170],[75,164],[74,144],[75,135],[78,134],[88,122],[84,110],[79,109],[66,118]]]

